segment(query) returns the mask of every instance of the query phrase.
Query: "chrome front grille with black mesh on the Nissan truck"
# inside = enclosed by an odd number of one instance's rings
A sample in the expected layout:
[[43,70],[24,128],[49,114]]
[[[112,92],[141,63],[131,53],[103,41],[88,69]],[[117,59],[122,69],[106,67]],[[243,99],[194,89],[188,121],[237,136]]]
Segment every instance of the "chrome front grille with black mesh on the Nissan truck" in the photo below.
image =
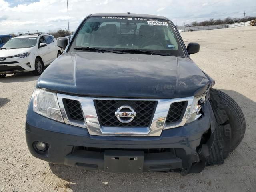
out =
[[[92,98],[57,94],[66,124],[87,128],[96,136],[160,136],[162,130],[184,126],[194,97],[177,99]],[[131,106],[136,116],[129,123],[117,121],[120,106]]]

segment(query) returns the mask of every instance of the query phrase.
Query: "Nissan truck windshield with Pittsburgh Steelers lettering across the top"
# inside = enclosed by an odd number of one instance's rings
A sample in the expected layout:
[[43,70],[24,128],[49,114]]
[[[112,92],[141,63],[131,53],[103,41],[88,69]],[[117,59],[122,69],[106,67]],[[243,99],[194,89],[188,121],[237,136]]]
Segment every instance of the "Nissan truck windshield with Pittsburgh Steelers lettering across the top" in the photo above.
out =
[[71,51],[81,47],[185,56],[170,22],[150,18],[90,17],[76,34]]

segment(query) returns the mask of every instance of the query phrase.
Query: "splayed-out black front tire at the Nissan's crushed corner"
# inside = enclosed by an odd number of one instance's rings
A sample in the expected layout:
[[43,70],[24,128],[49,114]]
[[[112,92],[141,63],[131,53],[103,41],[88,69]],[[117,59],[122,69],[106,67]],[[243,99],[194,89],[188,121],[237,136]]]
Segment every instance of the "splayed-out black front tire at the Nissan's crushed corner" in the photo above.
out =
[[[214,98],[210,98],[211,105],[220,104],[228,120],[219,124],[215,129],[214,143],[212,145],[210,156],[207,158],[207,165],[222,164],[227,158],[228,153],[233,151],[244,138],[246,123],[244,114],[238,104],[227,94],[220,90],[212,89]],[[213,101],[211,101],[213,100]],[[214,114],[218,108],[212,106]],[[223,110],[222,110],[223,113]],[[215,115],[217,116],[217,114]]]

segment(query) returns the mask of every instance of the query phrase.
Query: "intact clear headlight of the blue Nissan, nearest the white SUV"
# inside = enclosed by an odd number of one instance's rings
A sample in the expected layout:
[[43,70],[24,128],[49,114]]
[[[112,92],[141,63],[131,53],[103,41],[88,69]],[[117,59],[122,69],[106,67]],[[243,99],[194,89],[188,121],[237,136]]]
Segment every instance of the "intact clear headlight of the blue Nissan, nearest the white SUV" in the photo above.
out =
[[34,91],[33,109],[34,112],[42,116],[64,122],[60,112],[56,93],[36,88]]

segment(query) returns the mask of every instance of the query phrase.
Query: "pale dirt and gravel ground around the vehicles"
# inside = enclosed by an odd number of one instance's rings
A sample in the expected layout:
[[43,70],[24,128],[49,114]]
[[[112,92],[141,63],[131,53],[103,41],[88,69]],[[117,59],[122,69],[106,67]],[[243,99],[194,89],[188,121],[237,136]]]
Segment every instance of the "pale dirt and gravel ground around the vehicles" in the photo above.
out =
[[[0,191],[170,191],[256,192],[256,27],[182,32],[198,42],[192,59],[242,107],[246,134],[224,164],[200,174],[112,174],[57,166],[32,157],[26,146],[25,118],[38,76],[12,74],[0,79]],[[254,39],[254,40],[253,40]]]

